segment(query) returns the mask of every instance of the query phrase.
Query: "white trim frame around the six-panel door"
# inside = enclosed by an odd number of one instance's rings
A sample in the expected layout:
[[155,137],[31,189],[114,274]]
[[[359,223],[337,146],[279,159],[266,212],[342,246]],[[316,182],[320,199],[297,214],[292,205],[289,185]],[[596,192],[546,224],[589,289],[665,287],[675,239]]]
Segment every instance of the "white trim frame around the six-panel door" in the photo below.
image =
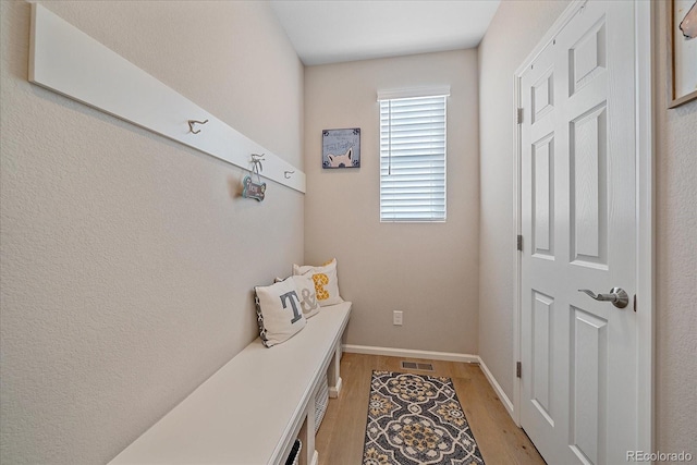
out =
[[[517,122],[517,109],[522,105],[521,82],[530,63],[551,44],[559,32],[580,11],[588,0],[573,0],[552,24],[542,39],[523,61],[514,74],[514,170],[513,170],[513,205],[515,234],[522,234],[522,184],[521,184],[521,157],[522,157],[522,126]],[[652,2],[635,2],[635,105],[636,105],[636,218],[637,218],[637,412],[638,412],[638,450],[652,451],[655,444],[653,409],[655,409],[655,292],[653,292],[653,114],[652,114]],[[641,33],[641,34],[639,34]],[[514,267],[514,299],[513,299],[513,412],[515,424],[521,426],[521,378],[515,376],[515,363],[521,360],[522,334],[521,334],[521,279],[522,279],[522,252],[515,247],[511,238],[511,250],[515,254]],[[529,246],[524,244],[524,247]],[[648,343],[645,343],[647,342]]]

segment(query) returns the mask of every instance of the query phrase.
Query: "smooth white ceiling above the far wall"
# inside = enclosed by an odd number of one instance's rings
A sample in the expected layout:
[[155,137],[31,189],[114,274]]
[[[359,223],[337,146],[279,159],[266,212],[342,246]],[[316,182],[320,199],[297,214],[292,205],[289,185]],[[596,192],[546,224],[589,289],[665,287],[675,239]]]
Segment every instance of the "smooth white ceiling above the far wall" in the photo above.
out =
[[479,45],[500,0],[271,0],[306,65]]

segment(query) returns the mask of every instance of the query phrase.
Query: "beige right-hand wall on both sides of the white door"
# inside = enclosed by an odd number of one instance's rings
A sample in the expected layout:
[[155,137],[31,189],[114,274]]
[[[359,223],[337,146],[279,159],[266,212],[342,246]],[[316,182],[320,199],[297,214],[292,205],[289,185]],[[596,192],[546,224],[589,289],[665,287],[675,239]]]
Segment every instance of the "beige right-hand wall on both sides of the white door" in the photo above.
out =
[[[655,3],[656,450],[697,453],[697,101],[665,108],[665,15]],[[479,47],[480,355],[513,394],[513,73],[566,2],[504,1]],[[511,40],[515,37],[515,40]],[[494,289],[503,290],[492,296]]]

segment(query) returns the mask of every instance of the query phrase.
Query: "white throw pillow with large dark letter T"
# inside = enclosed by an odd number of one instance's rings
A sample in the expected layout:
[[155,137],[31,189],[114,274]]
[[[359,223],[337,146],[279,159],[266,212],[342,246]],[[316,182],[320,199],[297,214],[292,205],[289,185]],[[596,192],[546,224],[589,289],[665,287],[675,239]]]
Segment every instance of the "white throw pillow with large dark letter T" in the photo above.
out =
[[267,347],[288,341],[305,328],[301,297],[292,278],[254,287],[261,342]]

